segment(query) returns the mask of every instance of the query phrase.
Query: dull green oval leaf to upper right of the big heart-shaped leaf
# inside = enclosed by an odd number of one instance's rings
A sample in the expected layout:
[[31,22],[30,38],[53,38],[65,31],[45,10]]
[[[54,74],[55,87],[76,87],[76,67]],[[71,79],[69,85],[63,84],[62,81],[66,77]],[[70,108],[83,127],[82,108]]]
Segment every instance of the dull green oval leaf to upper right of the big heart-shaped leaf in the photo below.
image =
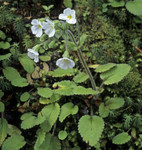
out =
[[118,109],[124,105],[124,99],[119,97],[111,98],[105,103],[108,109]]

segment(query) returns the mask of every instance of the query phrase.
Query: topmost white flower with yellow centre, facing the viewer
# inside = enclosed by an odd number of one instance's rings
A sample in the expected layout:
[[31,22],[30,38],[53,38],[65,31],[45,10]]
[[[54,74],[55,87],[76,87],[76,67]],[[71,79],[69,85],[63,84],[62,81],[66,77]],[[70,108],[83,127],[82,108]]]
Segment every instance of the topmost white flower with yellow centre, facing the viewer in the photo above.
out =
[[67,8],[63,11],[63,14],[59,15],[59,19],[66,20],[69,24],[75,24],[76,23],[76,17],[75,17],[75,10],[71,10],[70,8]]

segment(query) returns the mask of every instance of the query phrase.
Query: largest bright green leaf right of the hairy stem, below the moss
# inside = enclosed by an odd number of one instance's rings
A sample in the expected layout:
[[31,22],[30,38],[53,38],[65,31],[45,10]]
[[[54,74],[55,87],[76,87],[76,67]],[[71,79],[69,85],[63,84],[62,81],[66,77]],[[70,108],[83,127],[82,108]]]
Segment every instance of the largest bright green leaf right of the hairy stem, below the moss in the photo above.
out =
[[101,79],[104,80],[104,84],[114,84],[121,81],[130,71],[131,67],[127,64],[118,64],[112,69],[103,72]]

